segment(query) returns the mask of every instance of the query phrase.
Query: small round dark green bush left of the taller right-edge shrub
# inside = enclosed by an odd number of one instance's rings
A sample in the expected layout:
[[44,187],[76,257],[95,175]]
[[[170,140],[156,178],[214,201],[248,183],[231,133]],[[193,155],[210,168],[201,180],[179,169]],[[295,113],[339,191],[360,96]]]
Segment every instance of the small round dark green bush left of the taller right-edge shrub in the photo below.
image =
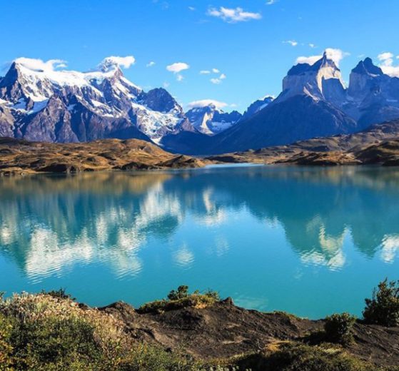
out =
[[334,314],[325,318],[325,340],[342,345],[353,342],[353,325],[356,317],[349,313]]

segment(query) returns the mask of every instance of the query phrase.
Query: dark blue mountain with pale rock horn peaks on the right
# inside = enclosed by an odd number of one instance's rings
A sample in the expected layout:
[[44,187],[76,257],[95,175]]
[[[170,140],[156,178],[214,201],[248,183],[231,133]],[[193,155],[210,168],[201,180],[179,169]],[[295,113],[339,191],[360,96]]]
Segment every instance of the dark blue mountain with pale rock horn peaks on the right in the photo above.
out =
[[353,68],[345,88],[338,66],[324,53],[311,65],[293,66],[283,79],[282,93],[273,102],[215,136],[203,153],[355,133],[395,118],[399,118],[399,78],[383,73],[366,58]]

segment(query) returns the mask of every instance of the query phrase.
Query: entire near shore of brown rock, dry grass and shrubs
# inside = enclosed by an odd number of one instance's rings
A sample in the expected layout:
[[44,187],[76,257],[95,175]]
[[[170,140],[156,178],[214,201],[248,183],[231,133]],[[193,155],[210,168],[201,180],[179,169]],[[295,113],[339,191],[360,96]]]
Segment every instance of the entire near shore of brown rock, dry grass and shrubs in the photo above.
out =
[[[332,340],[327,322],[350,337]],[[0,360],[6,370],[398,371],[399,326],[247,310],[187,286],[138,309],[90,308],[64,290],[22,293],[0,295]]]

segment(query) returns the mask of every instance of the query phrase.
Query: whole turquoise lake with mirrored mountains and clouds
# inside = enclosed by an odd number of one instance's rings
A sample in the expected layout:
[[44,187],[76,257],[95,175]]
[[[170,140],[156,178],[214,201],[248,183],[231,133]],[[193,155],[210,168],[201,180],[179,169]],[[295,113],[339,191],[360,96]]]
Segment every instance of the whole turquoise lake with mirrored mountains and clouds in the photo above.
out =
[[135,306],[172,288],[304,317],[399,278],[399,170],[212,167],[0,179],[0,290]]

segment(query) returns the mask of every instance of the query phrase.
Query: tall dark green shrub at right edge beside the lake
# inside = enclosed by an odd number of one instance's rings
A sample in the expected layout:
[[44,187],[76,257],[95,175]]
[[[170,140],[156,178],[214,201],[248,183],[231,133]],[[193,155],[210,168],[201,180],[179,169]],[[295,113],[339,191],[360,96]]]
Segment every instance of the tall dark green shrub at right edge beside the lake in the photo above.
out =
[[399,281],[385,278],[373,290],[373,298],[365,299],[365,322],[388,327],[399,325]]

